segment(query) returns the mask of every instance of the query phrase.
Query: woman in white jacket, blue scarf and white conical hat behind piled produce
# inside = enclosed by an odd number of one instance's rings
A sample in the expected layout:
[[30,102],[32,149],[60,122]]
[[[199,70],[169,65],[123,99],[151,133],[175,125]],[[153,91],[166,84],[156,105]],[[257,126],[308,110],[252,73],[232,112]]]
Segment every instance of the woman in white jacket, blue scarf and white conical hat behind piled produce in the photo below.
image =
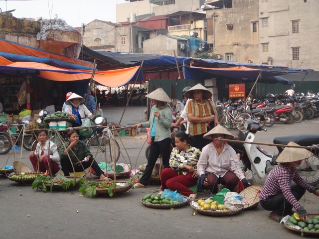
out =
[[65,113],[73,114],[74,116],[76,116],[76,121],[75,123],[73,123],[73,126],[81,126],[81,118],[85,118],[85,116],[93,119],[93,115],[88,110],[88,108],[86,108],[85,105],[81,105],[84,101],[85,100],[83,97],[73,93],[65,102],[66,105],[71,106],[65,110]]

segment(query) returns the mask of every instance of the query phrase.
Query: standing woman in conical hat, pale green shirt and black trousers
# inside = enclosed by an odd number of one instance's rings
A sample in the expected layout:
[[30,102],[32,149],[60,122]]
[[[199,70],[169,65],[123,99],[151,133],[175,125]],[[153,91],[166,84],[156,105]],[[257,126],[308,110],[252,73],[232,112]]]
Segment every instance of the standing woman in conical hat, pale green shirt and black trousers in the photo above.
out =
[[172,113],[165,102],[170,102],[170,99],[161,88],[146,95],[146,97],[151,98],[154,105],[151,109],[150,119],[147,122],[137,123],[133,125],[133,127],[149,127],[149,140],[152,142],[145,172],[140,181],[133,185],[134,188],[145,188],[148,185],[153,168],[160,155],[164,168],[169,167],[169,146],[171,143],[170,125]]

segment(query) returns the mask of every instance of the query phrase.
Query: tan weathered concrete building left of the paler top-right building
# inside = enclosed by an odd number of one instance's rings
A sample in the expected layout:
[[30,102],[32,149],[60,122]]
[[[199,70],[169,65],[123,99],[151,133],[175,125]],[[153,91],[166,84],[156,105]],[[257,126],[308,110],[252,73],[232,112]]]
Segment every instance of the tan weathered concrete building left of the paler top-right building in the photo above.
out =
[[[207,43],[219,59],[259,63],[258,0],[211,0]],[[224,4],[224,5],[222,5]]]

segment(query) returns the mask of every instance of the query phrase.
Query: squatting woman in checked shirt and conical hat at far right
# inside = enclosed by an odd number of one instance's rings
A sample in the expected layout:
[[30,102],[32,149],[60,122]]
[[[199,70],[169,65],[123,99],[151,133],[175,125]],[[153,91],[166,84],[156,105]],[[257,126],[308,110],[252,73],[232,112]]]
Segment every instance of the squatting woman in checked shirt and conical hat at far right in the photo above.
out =
[[[288,146],[299,146],[289,142]],[[308,213],[298,202],[305,191],[319,196],[319,190],[308,184],[298,173],[297,167],[313,153],[305,148],[286,147],[276,159],[279,164],[270,171],[261,194],[259,195],[261,206],[272,211],[269,218],[280,222],[284,216],[292,215],[295,208],[302,221],[308,220]],[[296,184],[291,185],[294,181]],[[306,189],[306,190],[305,190]]]

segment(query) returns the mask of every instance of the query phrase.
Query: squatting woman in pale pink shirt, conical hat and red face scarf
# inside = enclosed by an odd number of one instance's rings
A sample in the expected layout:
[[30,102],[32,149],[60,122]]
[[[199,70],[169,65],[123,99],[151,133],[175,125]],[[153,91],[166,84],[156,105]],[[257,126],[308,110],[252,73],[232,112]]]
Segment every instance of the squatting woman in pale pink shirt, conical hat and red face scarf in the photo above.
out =
[[234,136],[218,124],[206,133],[204,138],[213,141],[203,147],[197,163],[197,173],[200,175],[198,188],[202,185],[216,193],[218,184],[226,184],[233,192],[238,180],[241,180],[245,187],[249,186],[235,150],[226,141],[218,140],[233,139]]

